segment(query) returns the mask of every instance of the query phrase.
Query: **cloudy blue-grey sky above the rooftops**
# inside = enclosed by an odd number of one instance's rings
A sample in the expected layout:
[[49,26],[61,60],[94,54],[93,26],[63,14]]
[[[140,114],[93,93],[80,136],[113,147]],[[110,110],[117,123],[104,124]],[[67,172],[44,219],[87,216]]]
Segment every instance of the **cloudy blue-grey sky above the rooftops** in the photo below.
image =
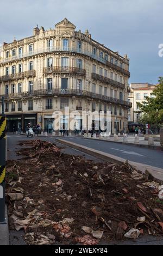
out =
[[0,44],[33,34],[67,17],[77,30],[130,58],[129,82],[156,83],[163,76],[162,0],[0,0]]

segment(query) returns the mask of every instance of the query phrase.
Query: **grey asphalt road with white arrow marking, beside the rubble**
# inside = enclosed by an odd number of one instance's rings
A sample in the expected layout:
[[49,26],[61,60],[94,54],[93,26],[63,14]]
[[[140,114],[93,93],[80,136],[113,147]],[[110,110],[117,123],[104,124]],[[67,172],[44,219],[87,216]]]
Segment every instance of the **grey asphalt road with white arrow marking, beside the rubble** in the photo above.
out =
[[84,145],[88,148],[103,151],[111,155],[122,157],[126,160],[163,168],[163,151],[160,150],[139,148],[133,147],[132,145],[130,146],[115,142],[97,141],[79,137],[64,137],[61,139]]

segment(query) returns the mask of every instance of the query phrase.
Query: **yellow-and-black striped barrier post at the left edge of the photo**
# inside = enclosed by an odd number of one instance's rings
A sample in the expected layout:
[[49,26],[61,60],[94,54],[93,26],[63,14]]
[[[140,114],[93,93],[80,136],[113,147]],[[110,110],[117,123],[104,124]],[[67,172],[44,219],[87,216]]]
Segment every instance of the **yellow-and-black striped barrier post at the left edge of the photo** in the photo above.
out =
[[0,224],[5,223],[5,115],[0,115]]

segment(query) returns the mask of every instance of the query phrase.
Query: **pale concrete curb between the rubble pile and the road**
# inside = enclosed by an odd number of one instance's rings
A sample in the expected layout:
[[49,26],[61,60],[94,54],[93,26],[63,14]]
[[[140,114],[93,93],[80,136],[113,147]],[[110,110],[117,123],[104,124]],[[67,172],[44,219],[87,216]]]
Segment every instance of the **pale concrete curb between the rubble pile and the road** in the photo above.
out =
[[[80,150],[84,153],[87,153],[89,155],[93,155],[98,157],[99,159],[102,159],[104,161],[108,161],[111,163],[125,163],[127,160],[123,159],[121,157],[111,155],[108,153],[104,153],[99,150],[91,149],[88,147],[85,147],[83,145],[79,145],[73,142],[65,141],[64,139],[55,139],[57,142],[60,142],[61,144],[67,145],[68,147]],[[135,167],[136,169],[140,170],[142,173],[147,173],[152,176],[153,180],[156,182],[159,182],[161,185],[163,184],[163,169],[154,167],[154,166],[148,166],[147,164],[137,163],[133,161],[128,161],[131,166]]]

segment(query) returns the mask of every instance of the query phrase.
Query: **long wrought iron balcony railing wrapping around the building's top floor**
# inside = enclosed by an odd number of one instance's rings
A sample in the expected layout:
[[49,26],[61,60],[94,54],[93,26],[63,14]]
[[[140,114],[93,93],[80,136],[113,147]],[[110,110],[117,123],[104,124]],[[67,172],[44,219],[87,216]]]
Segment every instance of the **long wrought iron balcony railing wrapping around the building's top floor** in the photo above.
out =
[[127,75],[128,77],[130,76],[130,72],[128,70],[122,69],[120,66],[117,66],[111,62],[109,62],[108,60],[105,60],[104,58],[98,57],[97,54],[93,54],[92,52],[86,51],[86,50],[82,50],[80,48],[76,48],[76,47],[47,47],[47,48],[39,48],[35,51],[32,52],[27,52],[27,53],[23,53],[21,56],[20,55],[16,55],[13,57],[9,57],[9,58],[4,58],[4,59],[0,59],[0,64],[1,63],[5,63],[5,62],[11,62],[17,59],[21,59],[21,58],[26,58],[26,57],[30,57],[30,56],[34,56],[36,54],[40,54],[40,53],[50,53],[50,52],[72,52],[72,53],[79,53],[82,55],[86,55],[89,56],[92,59],[96,59],[98,62],[101,62],[107,66],[109,66],[112,69],[115,69],[119,72],[122,72],[122,74]]

